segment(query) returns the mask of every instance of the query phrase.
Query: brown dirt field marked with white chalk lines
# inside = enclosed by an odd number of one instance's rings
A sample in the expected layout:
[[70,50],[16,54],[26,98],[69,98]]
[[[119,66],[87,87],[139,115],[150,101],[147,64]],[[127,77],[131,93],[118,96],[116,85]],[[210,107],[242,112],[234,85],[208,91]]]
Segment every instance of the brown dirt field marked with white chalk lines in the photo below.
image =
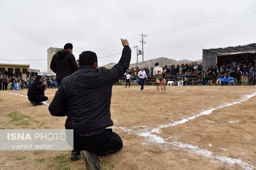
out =
[[[32,106],[27,90],[0,91],[0,129],[64,129],[66,117]],[[100,158],[103,170],[256,169],[256,86],[113,86],[112,129],[119,152]],[[14,118],[19,119],[14,119]],[[0,169],[86,169],[70,151],[0,151]]]

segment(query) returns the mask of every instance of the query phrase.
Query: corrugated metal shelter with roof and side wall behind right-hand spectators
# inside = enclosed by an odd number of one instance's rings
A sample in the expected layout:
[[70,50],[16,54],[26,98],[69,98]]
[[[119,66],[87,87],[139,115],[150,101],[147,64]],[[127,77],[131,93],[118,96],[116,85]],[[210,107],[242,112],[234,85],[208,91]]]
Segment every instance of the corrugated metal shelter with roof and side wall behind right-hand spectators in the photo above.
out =
[[231,64],[232,61],[254,61],[256,43],[218,49],[203,49],[203,70],[219,64]]

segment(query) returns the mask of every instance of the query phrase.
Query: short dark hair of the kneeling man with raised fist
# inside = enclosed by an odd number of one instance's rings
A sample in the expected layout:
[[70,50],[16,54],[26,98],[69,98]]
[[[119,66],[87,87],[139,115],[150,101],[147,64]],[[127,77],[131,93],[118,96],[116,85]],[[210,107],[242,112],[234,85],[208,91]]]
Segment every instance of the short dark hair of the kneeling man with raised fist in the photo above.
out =
[[80,66],[93,66],[94,63],[97,63],[97,55],[92,51],[83,51],[79,55],[79,64]]

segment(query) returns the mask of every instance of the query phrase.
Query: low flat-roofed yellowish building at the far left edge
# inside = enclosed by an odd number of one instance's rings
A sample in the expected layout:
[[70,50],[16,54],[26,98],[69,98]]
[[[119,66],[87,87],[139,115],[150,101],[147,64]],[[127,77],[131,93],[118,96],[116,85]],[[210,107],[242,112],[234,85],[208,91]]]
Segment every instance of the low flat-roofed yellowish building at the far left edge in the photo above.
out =
[[[13,72],[15,71],[16,73],[19,73],[20,71],[22,72],[22,77],[27,76],[27,71],[29,71],[29,64],[0,64],[0,76],[4,76],[4,72]],[[19,75],[19,74],[18,74]],[[15,76],[15,75],[14,75]],[[17,75],[16,75],[17,76]]]

